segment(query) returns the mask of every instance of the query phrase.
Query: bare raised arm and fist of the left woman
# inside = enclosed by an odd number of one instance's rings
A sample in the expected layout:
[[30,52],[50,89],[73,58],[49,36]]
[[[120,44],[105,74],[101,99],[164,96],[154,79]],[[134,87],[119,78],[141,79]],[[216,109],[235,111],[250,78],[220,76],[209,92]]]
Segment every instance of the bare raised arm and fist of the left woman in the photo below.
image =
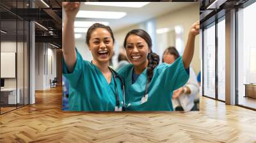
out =
[[73,72],[76,64],[76,49],[74,37],[74,21],[76,14],[79,11],[79,2],[63,2],[63,9],[65,11],[65,19],[62,32],[62,50],[63,58],[67,64],[68,72]]

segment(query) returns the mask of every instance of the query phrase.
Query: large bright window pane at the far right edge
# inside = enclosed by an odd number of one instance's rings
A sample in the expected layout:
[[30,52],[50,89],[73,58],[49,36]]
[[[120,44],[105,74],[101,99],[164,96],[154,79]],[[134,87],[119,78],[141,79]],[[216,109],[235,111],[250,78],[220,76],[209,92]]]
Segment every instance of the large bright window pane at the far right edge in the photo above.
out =
[[[256,109],[256,21],[252,19],[255,17],[256,3],[241,9],[237,12],[238,19],[238,104],[246,107]],[[253,93],[255,97],[248,96],[245,84],[249,84],[252,90],[248,93]]]

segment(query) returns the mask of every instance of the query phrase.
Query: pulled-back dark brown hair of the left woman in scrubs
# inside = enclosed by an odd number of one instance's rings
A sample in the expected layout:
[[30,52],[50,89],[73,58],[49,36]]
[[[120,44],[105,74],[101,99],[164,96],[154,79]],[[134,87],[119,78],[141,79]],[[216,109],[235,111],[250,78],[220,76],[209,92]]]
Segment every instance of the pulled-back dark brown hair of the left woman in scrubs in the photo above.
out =
[[104,28],[104,29],[108,30],[109,33],[111,34],[111,38],[113,39],[113,43],[115,43],[114,34],[113,34],[111,28],[109,26],[105,26],[103,24],[95,23],[91,27],[89,27],[89,29],[86,33],[86,44],[88,46],[89,46],[89,41],[90,41],[91,35],[92,35],[93,31],[95,31],[95,29],[97,29],[97,28]]

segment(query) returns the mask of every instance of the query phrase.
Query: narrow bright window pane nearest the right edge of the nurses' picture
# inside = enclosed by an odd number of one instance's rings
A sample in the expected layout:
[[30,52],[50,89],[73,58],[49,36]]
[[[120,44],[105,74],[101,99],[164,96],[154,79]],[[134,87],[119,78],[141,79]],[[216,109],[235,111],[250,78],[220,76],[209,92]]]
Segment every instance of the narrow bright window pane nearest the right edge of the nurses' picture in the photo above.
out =
[[204,29],[204,95],[215,98],[215,25]]

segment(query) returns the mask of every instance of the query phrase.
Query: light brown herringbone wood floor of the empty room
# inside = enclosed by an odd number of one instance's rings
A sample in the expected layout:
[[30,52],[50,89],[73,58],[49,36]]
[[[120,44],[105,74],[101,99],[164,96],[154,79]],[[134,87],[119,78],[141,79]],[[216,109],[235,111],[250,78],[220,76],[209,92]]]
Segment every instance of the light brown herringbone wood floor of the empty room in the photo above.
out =
[[61,88],[0,116],[0,142],[256,142],[256,112],[200,99],[200,112],[63,112]]

